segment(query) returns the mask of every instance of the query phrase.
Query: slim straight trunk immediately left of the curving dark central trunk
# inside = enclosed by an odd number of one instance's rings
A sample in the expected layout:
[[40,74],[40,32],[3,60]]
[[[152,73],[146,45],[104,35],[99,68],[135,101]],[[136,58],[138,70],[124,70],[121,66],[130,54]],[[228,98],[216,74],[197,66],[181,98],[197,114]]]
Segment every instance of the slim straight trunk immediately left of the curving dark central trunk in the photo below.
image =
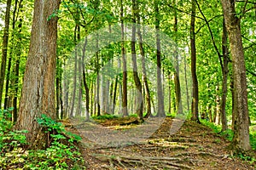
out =
[[122,61],[123,61],[123,96],[122,96],[122,112],[123,116],[128,116],[127,111],[127,68],[126,68],[126,59],[125,59],[125,28],[124,28],[124,7],[123,0],[121,0],[121,8],[120,8],[120,20],[121,20],[121,50],[122,50]]

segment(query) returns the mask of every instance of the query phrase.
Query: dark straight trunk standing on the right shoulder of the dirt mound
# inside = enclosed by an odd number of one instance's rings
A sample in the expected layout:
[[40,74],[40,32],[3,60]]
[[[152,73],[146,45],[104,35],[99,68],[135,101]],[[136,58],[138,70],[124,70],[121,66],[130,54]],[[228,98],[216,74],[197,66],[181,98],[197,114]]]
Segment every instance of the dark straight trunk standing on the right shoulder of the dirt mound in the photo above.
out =
[[190,25],[190,46],[191,46],[191,74],[193,80],[193,99],[191,120],[199,121],[198,114],[198,81],[196,77],[196,51],[195,51],[195,0],[192,0],[192,14]]

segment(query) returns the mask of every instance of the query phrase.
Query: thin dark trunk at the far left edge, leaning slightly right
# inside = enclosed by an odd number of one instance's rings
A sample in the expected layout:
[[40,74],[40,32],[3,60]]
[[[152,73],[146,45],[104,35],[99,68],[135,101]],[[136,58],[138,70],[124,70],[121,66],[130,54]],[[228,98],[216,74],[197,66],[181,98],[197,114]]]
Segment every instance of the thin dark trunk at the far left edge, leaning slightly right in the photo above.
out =
[[11,3],[12,3],[11,0],[7,0],[6,10],[5,10],[2,60],[1,60],[1,71],[0,71],[0,108],[2,105],[3,83],[4,83],[5,67],[6,67],[6,60],[7,60],[7,49],[8,49],[8,40],[9,40],[9,13],[10,13],[10,8],[11,8]]

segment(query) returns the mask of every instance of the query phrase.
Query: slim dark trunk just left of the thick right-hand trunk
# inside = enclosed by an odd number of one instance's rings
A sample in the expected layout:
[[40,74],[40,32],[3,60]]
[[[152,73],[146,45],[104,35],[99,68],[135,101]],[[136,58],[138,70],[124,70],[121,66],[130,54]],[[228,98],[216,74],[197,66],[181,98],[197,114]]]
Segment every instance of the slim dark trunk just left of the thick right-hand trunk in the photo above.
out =
[[228,35],[225,23],[223,22],[223,35],[222,35],[222,52],[224,58],[223,65],[223,80],[222,80],[222,97],[220,104],[220,114],[221,114],[221,125],[222,131],[228,130],[227,116],[226,116],[226,100],[227,100],[227,89],[228,89],[228,75],[229,75],[229,59],[228,59]]

